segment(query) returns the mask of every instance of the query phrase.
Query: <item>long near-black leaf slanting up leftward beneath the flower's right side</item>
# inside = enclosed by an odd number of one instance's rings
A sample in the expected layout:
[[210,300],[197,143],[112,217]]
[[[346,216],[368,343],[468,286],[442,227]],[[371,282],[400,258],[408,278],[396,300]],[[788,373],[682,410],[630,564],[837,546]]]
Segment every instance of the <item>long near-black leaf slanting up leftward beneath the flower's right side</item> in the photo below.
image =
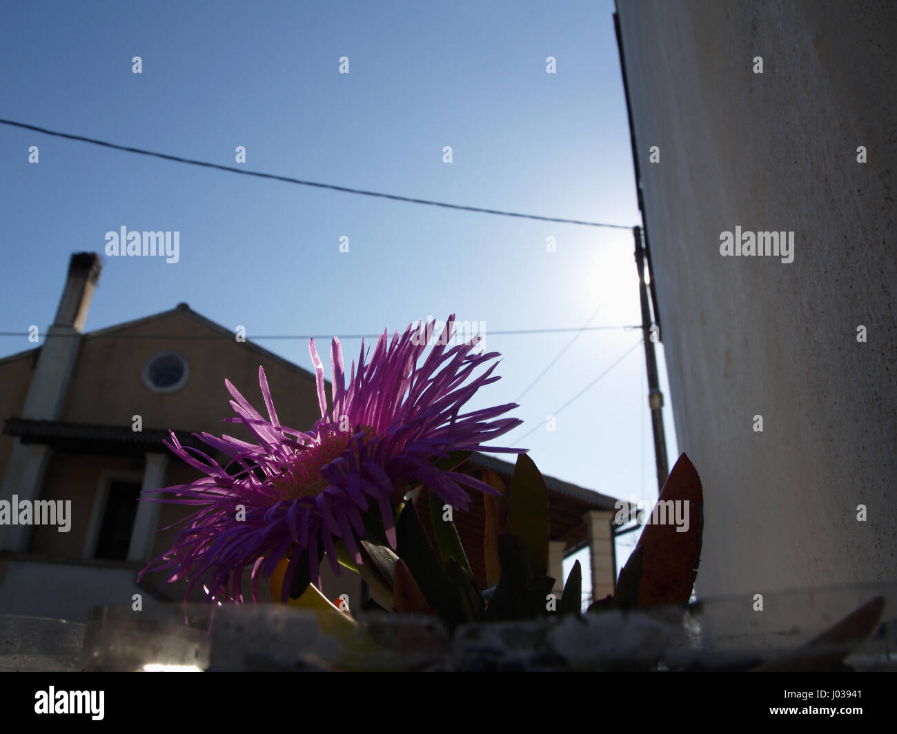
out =
[[411,503],[405,505],[399,514],[396,537],[398,555],[405,562],[405,566],[408,566],[414,581],[430,606],[436,609],[449,627],[457,626],[464,621],[464,612],[457,598],[455,584],[451,582],[446,570],[440,564],[440,559],[427,539],[417,511]]

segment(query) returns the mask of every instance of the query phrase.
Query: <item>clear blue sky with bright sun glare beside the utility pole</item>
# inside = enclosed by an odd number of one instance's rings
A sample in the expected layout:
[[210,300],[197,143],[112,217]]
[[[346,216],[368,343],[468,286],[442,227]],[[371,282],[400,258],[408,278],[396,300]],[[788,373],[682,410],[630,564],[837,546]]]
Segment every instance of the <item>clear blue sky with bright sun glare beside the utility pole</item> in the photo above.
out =
[[[243,145],[252,170],[631,226],[640,216],[613,10],[610,0],[7,2],[0,117],[228,166]],[[338,73],[340,56],[350,73]],[[557,73],[546,73],[548,56]],[[391,332],[456,313],[483,322],[486,346],[503,355],[501,381],[471,408],[520,403],[525,424],[504,445],[582,487],[657,498],[641,348],[557,412],[640,332],[581,332],[536,384],[576,334],[490,335],[640,324],[630,231],[293,186],[6,125],[0,187],[0,331],[50,324],[69,255],[102,253],[107,231],[178,230],[177,264],[104,255],[88,331],[180,301],[245,325],[250,340]],[[307,341],[258,343],[311,368]],[[0,337],[0,356],[30,346]],[[658,359],[668,394],[662,347]],[[549,415],[553,432],[540,426]]]

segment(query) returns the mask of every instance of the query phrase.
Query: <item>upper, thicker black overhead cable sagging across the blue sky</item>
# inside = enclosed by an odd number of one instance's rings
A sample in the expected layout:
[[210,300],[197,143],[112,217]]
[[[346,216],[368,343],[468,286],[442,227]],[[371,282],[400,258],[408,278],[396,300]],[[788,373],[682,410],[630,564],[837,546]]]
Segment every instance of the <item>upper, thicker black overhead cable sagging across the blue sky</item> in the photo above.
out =
[[425,204],[427,206],[441,206],[446,209],[457,209],[463,212],[480,212],[483,214],[496,214],[501,217],[517,217],[518,219],[526,219],[526,220],[539,220],[539,221],[556,221],[561,222],[562,224],[577,224],[582,227],[604,227],[607,229],[632,229],[630,225],[626,224],[606,224],[604,222],[597,221],[583,221],[583,220],[568,220],[563,219],[562,217],[542,217],[537,214],[522,214],[520,212],[503,212],[499,209],[486,209],[480,206],[464,206],[462,204],[453,204],[446,202],[434,202],[430,199],[418,199],[413,196],[400,196],[398,194],[383,194],[379,191],[366,191],[360,188],[352,188],[350,186],[335,186],[334,184],[321,184],[317,181],[303,181],[300,178],[293,178],[290,176],[278,176],[274,173],[263,173],[262,171],[253,171],[247,170],[245,168],[234,168],[233,166],[222,166],[219,163],[209,163],[206,160],[194,160],[190,158],[183,158],[177,155],[170,155],[168,153],[160,153],[155,151],[145,151],[142,148],[134,148],[129,145],[118,145],[114,142],[107,142],[102,140],[96,140],[94,138],[84,137],[83,135],[73,135],[69,133],[60,133],[56,130],[48,130],[45,127],[38,127],[37,125],[26,125],[25,123],[15,122],[14,120],[5,120],[0,118],[0,124],[2,125],[12,125],[13,127],[21,127],[24,130],[32,130],[36,133],[41,133],[45,135],[53,135],[57,138],[65,138],[67,140],[75,140],[79,142],[90,142],[93,145],[101,145],[104,148],[111,148],[115,151],[126,151],[129,153],[137,153],[139,155],[148,155],[154,158],[161,158],[163,160],[173,160],[176,163],[186,163],[190,166],[202,166],[203,168],[216,168],[217,170],[222,171],[230,171],[231,173],[239,173],[242,176],[255,176],[258,178],[271,178],[274,181],[283,181],[288,184],[296,184],[298,186],[315,186],[316,188],[327,188],[331,191],[342,191],[346,194],[361,194],[362,196],[378,196],[381,199],[392,199],[396,202],[407,202],[407,203],[418,203]]

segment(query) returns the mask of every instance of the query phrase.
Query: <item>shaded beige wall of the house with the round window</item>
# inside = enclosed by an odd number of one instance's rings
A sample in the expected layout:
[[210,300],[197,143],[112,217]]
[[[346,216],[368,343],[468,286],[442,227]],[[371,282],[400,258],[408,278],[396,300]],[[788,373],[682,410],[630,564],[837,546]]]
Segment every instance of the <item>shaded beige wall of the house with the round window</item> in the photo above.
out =
[[[220,436],[228,433],[249,440],[248,432],[236,424],[222,423],[234,415],[229,404],[230,393],[224,386],[230,379],[257,410],[266,414],[258,387],[258,366],[265,367],[268,384],[274,395],[274,407],[283,425],[309,429],[319,418],[318,393],[314,376],[282,360],[268,357],[246,343],[234,339],[208,339],[221,332],[198,322],[184,312],[174,312],[143,324],[135,324],[116,335],[166,334],[190,339],[91,338],[82,341],[71,384],[60,420],[130,428],[132,416],[143,418],[144,429],[176,429],[208,431]],[[187,359],[190,377],[175,393],[154,393],[143,381],[146,362],[160,351],[177,351]],[[0,363],[0,419],[20,416],[30,385],[33,353]],[[185,438],[188,437],[184,436]],[[0,471],[12,449],[13,437],[0,436]],[[222,457],[217,457],[222,461]],[[201,475],[170,454],[163,486],[186,484]],[[55,527],[36,527],[29,551],[42,557],[76,560],[82,556],[100,478],[105,471],[136,472],[142,476],[142,457],[125,458],[91,454],[54,453],[48,462],[40,497],[72,501],[72,529],[60,533]],[[195,508],[161,505],[153,544],[153,557],[170,548],[174,530],[164,530],[184,518]],[[118,564],[121,566],[122,564]],[[136,570],[135,566],[135,570]],[[148,574],[147,581],[160,586],[165,574]],[[350,606],[360,603],[361,580],[348,569],[337,578],[325,563],[322,566],[323,591],[331,600],[341,593],[349,594]],[[167,584],[162,591],[174,599],[182,599],[187,585]],[[244,574],[244,592],[249,592],[248,571]],[[134,588],[121,590],[121,603],[130,602]],[[201,590],[193,594],[198,600]],[[262,584],[261,597],[270,599],[270,591]],[[85,600],[87,603],[89,600]]]

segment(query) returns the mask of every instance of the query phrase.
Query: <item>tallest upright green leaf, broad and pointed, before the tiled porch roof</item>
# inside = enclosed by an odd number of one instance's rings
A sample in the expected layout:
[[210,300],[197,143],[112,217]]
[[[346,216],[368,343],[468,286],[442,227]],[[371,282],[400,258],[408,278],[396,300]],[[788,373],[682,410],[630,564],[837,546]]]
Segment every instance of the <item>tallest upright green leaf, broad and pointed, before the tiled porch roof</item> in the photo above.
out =
[[526,453],[517,457],[508,501],[508,532],[523,541],[533,575],[548,573],[548,489]]

